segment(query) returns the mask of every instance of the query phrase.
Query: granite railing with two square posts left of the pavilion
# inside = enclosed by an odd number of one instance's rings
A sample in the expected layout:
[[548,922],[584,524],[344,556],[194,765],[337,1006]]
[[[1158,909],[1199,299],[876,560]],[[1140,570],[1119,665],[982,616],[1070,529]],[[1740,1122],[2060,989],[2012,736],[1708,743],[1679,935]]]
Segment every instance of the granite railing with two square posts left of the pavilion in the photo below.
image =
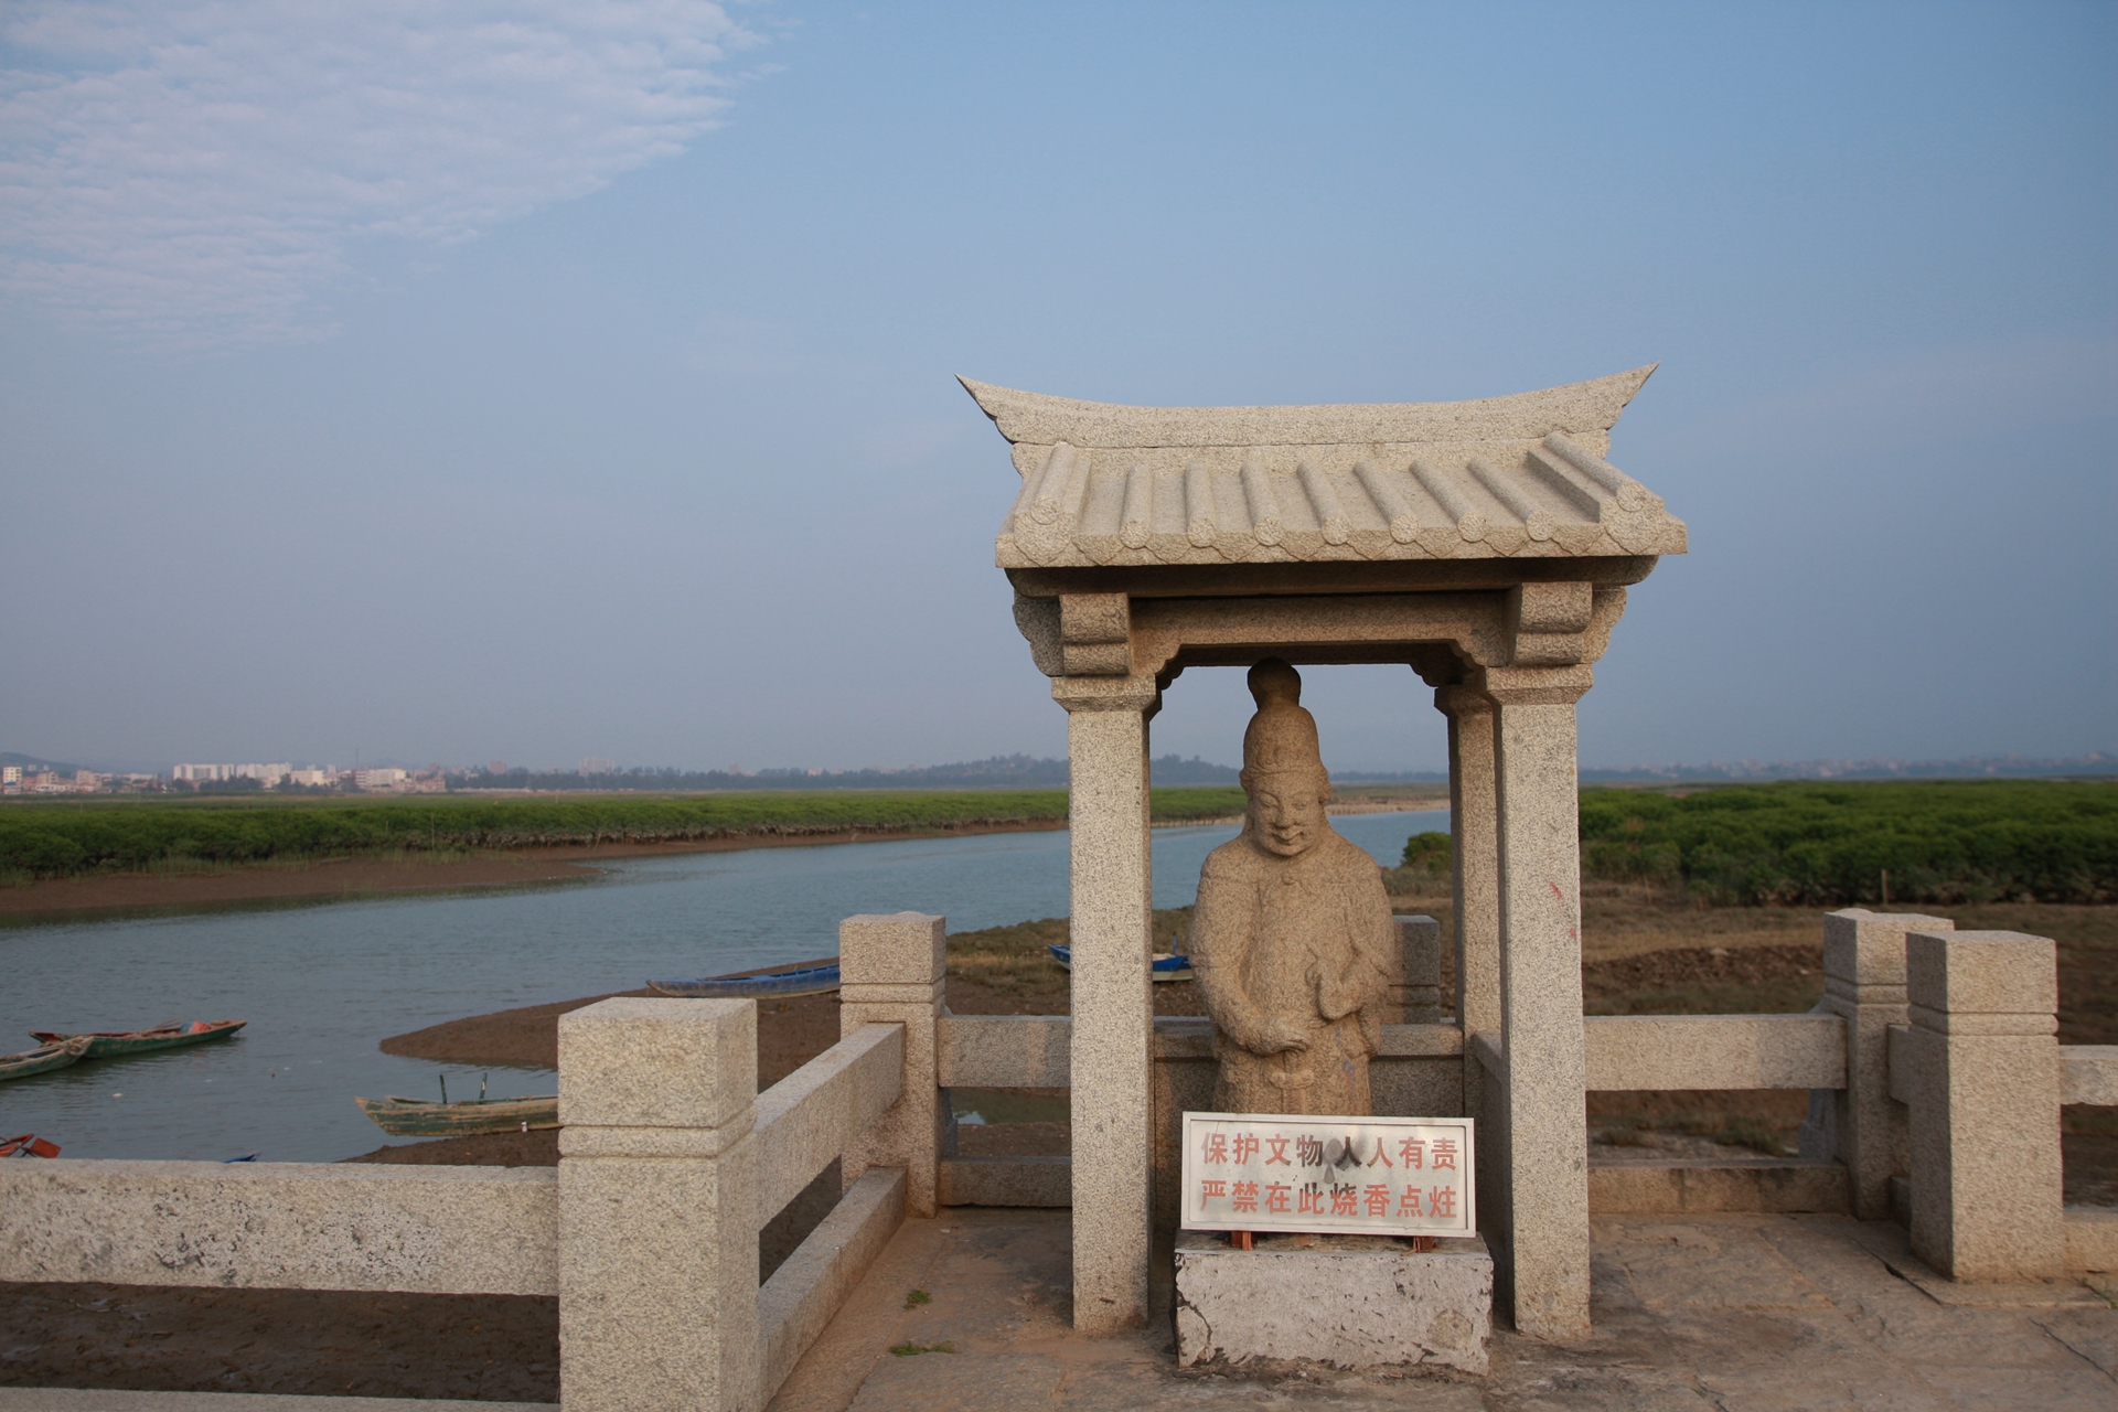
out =
[[[754,1001],[561,1016],[557,1171],[0,1162],[0,1279],[557,1296],[568,1412],[758,1408],[934,1211],[940,938],[849,919],[843,1037],[762,1094]],[[832,1162],[837,1207],[760,1287],[758,1230]]]

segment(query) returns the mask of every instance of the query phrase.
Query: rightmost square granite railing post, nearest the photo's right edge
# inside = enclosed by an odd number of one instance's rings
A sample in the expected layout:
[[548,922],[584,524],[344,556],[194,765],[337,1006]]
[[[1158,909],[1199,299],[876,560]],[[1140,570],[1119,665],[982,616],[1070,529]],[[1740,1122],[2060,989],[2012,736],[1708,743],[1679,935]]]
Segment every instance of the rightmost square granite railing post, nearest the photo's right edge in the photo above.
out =
[[1957,1281],[2065,1272],[2059,959],[2021,931],[1906,936],[1913,1253]]

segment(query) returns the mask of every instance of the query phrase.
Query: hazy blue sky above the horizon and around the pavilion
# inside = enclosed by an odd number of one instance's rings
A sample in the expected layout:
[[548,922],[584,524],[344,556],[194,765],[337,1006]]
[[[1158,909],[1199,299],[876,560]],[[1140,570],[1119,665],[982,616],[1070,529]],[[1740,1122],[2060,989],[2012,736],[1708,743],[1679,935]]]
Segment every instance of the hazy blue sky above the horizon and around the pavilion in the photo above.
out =
[[[0,747],[1061,754],[955,373],[1661,362],[1584,764],[2118,745],[2110,4],[0,15]],[[1406,671],[1326,758],[1434,768]],[[1156,752],[1233,760],[1190,673]]]

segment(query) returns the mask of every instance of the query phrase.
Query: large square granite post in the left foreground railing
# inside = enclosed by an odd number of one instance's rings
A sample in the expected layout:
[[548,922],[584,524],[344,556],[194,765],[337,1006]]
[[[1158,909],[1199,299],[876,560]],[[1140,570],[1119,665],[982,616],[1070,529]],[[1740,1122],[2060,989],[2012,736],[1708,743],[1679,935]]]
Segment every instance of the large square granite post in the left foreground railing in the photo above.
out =
[[756,1001],[559,1016],[566,1412],[760,1404],[756,1090]]

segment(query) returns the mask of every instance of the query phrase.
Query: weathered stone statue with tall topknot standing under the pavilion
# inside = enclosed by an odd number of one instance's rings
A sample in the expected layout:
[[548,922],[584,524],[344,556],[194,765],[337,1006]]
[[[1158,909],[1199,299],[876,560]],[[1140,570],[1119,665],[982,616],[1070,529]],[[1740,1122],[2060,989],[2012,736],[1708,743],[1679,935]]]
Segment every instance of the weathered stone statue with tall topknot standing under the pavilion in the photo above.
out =
[[1383,870],[1341,838],[1303,680],[1250,669],[1243,834],[1199,872],[1190,957],[1214,1016],[1224,1114],[1370,1114],[1368,1056],[1394,974]]

